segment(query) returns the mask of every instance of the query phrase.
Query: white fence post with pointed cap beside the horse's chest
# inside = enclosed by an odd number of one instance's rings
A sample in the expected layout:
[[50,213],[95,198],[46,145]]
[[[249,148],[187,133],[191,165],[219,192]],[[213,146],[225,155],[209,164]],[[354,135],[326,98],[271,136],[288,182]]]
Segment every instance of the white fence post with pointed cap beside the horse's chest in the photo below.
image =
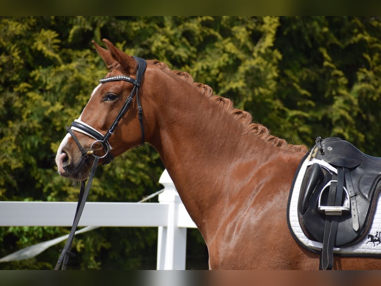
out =
[[168,204],[168,225],[158,228],[157,270],[185,270],[187,228],[178,227],[179,204],[182,203],[167,170],[159,179],[164,191],[159,202]]

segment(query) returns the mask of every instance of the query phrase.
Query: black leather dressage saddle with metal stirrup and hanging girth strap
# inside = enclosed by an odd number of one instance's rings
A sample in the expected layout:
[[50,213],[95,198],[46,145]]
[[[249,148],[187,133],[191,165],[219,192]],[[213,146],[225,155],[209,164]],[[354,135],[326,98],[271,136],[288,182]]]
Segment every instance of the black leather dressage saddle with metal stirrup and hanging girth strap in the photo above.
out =
[[320,269],[332,269],[333,248],[356,244],[372,224],[381,189],[381,158],[340,138],[320,137],[301,183],[298,219],[323,244]]

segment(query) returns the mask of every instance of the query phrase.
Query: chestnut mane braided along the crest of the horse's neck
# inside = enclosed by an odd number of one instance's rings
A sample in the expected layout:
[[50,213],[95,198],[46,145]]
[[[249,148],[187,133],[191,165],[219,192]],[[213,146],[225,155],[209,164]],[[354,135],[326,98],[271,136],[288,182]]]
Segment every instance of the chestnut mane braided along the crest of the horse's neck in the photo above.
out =
[[286,140],[275,137],[270,134],[270,130],[263,126],[262,124],[254,123],[251,114],[247,111],[239,110],[233,107],[233,102],[230,99],[214,95],[213,90],[210,86],[202,83],[197,83],[193,81],[191,75],[187,72],[171,70],[167,64],[163,62],[159,62],[157,60],[149,60],[147,61],[158,68],[170,72],[179,78],[187,81],[191,84],[195,89],[197,89],[201,94],[205,97],[209,98],[216,105],[221,106],[226,109],[226,111],[236,120],[238,120],[242,125],[246,126],[247,131],[253,133],[256,136],[259,136],[265,142],[273,144],[277,147],[285,148],[286,150],[294,150],[294,151],[307,151],[306,146],[304,145],[293,145],[288,144]]

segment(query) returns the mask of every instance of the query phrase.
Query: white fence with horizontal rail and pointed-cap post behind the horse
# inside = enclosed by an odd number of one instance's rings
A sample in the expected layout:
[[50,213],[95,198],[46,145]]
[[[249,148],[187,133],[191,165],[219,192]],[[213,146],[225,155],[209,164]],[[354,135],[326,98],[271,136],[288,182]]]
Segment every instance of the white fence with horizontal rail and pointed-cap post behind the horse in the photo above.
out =
[[[158,227],[158,270],[185,270],[187,228],[196,228],[167,170],[158,203],[87,202],[79,226]],[[0,226],[71,226],[77,202],[0,201]]]

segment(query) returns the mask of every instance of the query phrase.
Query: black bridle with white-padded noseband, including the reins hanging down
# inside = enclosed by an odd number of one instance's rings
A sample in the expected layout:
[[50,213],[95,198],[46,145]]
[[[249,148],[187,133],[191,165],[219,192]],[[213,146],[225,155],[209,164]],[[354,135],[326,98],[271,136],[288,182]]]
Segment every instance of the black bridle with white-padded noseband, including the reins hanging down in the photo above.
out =
[[[132,100],[133,100],[135,94],[136,94],[136,102],[137,102],[137,107],[138,107],[138,119],[139,119],[139,123],[140,123],[140,130],[142,132],[142,140],[141,140],[141,143],[139,146],[143,145],[143,143],[145,142],[144,126],[143,126],[143,108],[142,108],[141,103],[140,103],[138,90],[139,90],[139,87],[141,86],[142,77],[143,77],[143,74],[146,70],[147,62],[144,59],[141,59],[141,58],[138,58],[135,56],[133,56],[133,58],[136,60],[136,62],[138,64],[138,68],[136,71],[136,79],[133,79],[129,76],[119,75],[119,76],[106,77],[106,78],[99,80],[99,82],[101,84],[106,83],[106,82],[110,82],[110,81],[121,81],[121,80],[123,80],[123,81],[130,82],[134,85],[130,95],[125,100],[121,110],[119,111],[115,120],[111,124],[107,133],[105,135],[103,135],[100,132],[98,132],[95,128],[91,127],[90,125],[88,125],[85,122],[78,120],[78,119],[74,120],[74,122],[71,124],[71,126],[67,129],[67,132],[73,137],[73,140],[75,141],[75,143],[77,143],[78,147],[80,148],[83,160],[85,160],[88,163],[88,165],[90,166],[89,155],[93,155],[95,157],[95,159],[94,159],[93,166],[92,166],[92,169],[91,169],[91,172],[89,175],[88,183],[85,186],[86,180],[81,182],[80,195],[79,195],[76,213],[74,216],[73,226],[72,226],[72,229],[70,231],[68,240],[66,241],[65,247],[61,251],[61,255],[60,255],[60,257],[57,261],[57,264],[54,268],[55,270],[59,270],[61,265],[62,265],[62,270],[66,270],[66,267],[67,267],[68,262],[69,262],[69,257],[75,256],[71,252],[73,239],[74,239],[75,231],[77,229],[79,220],[80,220],[81,215],[82,215],[82,211],[85,207],[86,198],[89,194],[90,187],[91,187],[91,184],[93,182],[96,166],[99,162],[99,159],[101,159],[101,158],[103,158],[103,161],[102,161],[103,164],[107,164],[107,163],[111,162],[113,156],[111,155],[110,150],[112,149],[112,147],[111,147],[110,143],[108,142],[108,139],[114,133],[114,131],[117,128],[121,118],[127,112],[128,108],[130,107],[130,105],[132,103]],[[95,139],[95,141],[91,144],[89,150],[85,150],[85,148],[81,145],[81,143],[79,142],[79,140],[77,139],[77,137],[73,131],[85,134],[85,135]],[[105,151],[105,154],[103,156],[98,156],[94,153],[93,146],[95,143],[100,143],[102,145],[103,150]]]

